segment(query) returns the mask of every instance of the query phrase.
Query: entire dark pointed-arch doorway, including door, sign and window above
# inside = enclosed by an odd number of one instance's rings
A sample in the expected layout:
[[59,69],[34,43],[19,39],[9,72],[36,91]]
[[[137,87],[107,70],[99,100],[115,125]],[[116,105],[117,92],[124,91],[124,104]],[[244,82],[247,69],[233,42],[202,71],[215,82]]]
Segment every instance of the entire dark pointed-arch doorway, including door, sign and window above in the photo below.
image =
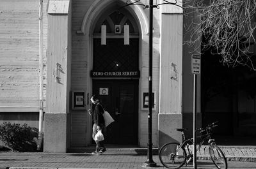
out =
[[[101,44],[102,25],[106,45]],[[124,45],[124,25],[129,25],[129,45]],[[120,6],[105,10],[93,29],[92,92],[115,119],[106,144],[138,145],[139,37],[136,21]]]

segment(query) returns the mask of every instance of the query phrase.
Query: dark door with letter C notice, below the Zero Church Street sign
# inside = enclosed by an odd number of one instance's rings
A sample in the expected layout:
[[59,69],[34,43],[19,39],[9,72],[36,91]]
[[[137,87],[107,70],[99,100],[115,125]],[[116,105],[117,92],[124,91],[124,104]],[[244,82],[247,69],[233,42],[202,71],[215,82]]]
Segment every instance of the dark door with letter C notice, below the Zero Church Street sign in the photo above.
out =
[[138,145],[138,80],[93,80],[93,94],[115,119],[105,143]]

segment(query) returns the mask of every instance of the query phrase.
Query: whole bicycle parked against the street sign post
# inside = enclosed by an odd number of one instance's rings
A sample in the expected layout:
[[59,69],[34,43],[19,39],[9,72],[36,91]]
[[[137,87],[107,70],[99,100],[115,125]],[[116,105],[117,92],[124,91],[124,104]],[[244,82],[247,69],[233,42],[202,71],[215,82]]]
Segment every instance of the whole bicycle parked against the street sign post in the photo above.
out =
[[[205,141],[209,145],[209,154],[214,165],[219,169],[227,169],[227,159],[224,153],[221,151],[220,147],[216,145],[214,139],[211,138],[212,128],[215,128],[217,122],[209,124],[206,128],[196,129],[196,132],[200,132],[200,136],[196,136],[200,140],[200,143],[196,146],[196,152],[203,145]],[[193,152],[189,149],[189,145],[193,145],[193,138],[185,139],[184,131],[186,129],[180,128],[177,131],[182,133],[182,142],[170,142],[166,143],[161,147],[159,151],[159,159],[161,163],[166,166],[166,168],[180,168],[183,165],[188,165],[188,163],[193,159]],[[193,149],[192,149],[193,150]],[[188,155],[187,155],[188,154]],[[193,161],[193,160],[192,160]]]

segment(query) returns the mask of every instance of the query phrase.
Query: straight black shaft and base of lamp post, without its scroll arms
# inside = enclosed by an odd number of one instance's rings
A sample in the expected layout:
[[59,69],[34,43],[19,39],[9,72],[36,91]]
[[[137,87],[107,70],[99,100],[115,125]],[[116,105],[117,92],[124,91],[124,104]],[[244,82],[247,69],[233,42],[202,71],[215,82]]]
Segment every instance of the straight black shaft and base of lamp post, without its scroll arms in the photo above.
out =
[[149,45],[148,45],[148,151],[143,167],[154,167],[152,158],[152,57],[153,57],[153,0],[149,1]]

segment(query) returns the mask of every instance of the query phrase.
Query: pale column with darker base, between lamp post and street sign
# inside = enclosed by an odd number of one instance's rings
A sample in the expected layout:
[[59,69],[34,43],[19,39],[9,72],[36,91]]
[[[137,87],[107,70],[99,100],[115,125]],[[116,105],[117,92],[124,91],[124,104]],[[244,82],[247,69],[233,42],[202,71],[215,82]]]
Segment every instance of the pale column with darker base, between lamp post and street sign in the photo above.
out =
[[161,58],[159,93],[159,148],[180,142],[182,128],[182,9],[161,6]]

